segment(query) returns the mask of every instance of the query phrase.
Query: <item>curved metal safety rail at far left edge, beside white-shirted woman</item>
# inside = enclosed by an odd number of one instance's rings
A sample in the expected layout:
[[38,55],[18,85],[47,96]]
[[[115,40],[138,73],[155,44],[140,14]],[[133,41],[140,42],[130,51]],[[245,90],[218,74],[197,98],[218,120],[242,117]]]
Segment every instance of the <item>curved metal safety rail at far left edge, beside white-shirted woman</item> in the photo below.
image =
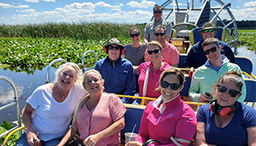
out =
[[[17,126],[13,127],[12,129],[10,129],[7,132],[3,132],[0,135],[0,138],[3,138],[3,136],[9,134],[10,132],[12,132],[15,129],[17,129],[18,127],[20,127],[21,126],[21,121],[20,121],[20,104],[19,104],[18,90],[17,90],[17,87],[15,86],[15,82],[12,81],[11,79],[9,79],[6,76],[0,76],[0,80],[8,81],[9,84],[13,87],[13,90],[14,90],[14,93],[15,93],[15,101],[10,103],[10,104],[7,104],[7,105],[4,105],[4,106],[0,107],[0,110],[4,110],[6,108],[9,108],[12,105],[16,105],[16,113],[17,113],[17,120],[18,120],[18,125]],[[21,135],[21,132],[20,132],[20,135]]]

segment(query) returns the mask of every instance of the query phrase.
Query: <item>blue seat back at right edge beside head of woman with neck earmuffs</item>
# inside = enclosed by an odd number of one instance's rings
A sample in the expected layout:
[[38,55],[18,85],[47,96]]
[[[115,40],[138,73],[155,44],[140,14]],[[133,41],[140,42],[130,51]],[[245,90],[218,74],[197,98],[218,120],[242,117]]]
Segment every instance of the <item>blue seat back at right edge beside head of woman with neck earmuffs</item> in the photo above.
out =
[[247,97],[244,102],[252,102],[252,107],[256,103],[256,81],[253,79],[244,79],[247,86]]

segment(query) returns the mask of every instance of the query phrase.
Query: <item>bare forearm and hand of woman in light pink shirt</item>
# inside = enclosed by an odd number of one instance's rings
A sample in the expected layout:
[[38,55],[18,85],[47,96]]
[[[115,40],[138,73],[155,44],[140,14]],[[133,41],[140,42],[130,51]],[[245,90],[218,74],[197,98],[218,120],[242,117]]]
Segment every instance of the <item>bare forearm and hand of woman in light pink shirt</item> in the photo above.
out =
[[109,136],[113,135],[116,132],[125,128],[125,117],[119,119],[119,121],[113,122],[111,126],[104,129],[102,132],[98,132],[94,135],[90,135],[89,137],[85,138],[84,145],[85,146],[94,146],[103,138],[108,138]]

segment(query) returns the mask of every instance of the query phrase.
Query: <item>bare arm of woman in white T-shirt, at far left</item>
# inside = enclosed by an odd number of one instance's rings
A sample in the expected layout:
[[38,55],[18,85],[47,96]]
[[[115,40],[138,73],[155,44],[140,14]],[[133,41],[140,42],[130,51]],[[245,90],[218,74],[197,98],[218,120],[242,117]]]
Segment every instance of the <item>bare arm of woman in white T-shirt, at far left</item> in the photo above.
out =
[[37,145],[40,143],[38,139],[38,132],[32,128],[32,112],[34,109],[30,104],[26,104],[23,110],[21,110],[21,119],[25,125],[26,140],[30,145]]

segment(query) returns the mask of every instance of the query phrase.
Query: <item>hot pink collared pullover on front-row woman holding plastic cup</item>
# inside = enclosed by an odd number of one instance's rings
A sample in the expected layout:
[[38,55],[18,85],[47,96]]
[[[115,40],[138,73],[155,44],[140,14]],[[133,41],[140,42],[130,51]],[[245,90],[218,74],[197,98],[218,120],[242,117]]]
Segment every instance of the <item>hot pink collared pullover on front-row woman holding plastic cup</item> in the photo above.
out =
[[151,101],[144,110],[137,141],[145,143],[148,139],[155,139],[160,141],[162,146],[177,146],[172,143],[171,137],[191,141],[196,130],[194,110],[185,104],[178,94],[176,98],[166,101],[165,109],[160,112],[162,99],[160,96]]

